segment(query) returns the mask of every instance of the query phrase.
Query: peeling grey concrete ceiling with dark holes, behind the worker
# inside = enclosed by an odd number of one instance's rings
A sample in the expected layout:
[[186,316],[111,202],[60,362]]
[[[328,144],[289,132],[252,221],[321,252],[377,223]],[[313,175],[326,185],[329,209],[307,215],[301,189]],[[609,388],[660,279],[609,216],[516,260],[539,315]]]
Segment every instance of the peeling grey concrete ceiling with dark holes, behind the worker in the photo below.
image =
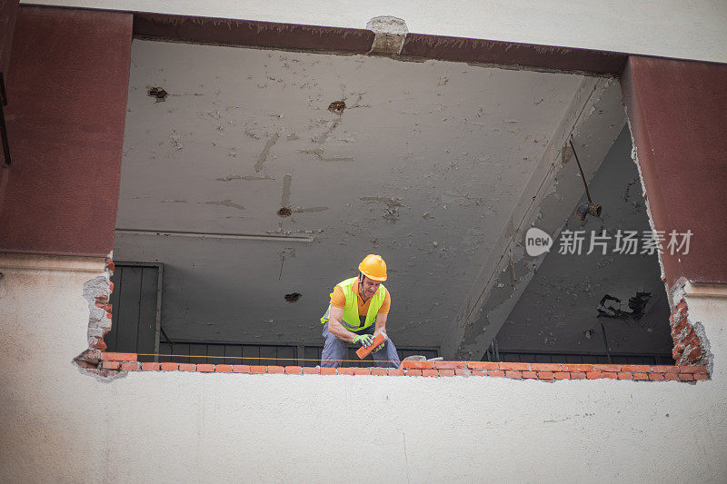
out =
[[313,342],[334,284],[379,253],[393,341],[439,346],[584,82],[134,40],[115,260],[164,262],[172,338]]

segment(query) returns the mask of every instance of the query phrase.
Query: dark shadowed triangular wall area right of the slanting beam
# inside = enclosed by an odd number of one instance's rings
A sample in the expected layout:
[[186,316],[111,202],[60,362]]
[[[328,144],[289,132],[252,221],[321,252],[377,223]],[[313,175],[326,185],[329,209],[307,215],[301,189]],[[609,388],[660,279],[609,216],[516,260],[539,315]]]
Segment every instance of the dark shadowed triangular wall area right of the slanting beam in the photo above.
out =
[[[671,358],[669,305],[657,256],[616,248],[619,230],[640,236],[651,230],[631,151],[625,126],[589,184],[593,200],[603,205],[602,216],[579,222],[572,214],[568,219],[498,333],[499,351],[611,351]],[[580,253],[560,253],[567,231],[584,231]],[[606,248],[594,246],[588,254],[593,235],[603,231],[610,237]]]

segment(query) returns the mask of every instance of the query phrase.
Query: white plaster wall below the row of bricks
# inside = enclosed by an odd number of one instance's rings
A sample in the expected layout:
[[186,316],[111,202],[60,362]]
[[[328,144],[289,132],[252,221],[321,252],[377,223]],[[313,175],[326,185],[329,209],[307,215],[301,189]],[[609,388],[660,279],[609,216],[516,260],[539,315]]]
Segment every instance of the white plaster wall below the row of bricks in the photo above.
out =
[[[13,266],[14,267],[10,267]],[[725,299],[690,300],[713,380],[82,374],[82,285],[0,258],[5,482],[723,482]]]

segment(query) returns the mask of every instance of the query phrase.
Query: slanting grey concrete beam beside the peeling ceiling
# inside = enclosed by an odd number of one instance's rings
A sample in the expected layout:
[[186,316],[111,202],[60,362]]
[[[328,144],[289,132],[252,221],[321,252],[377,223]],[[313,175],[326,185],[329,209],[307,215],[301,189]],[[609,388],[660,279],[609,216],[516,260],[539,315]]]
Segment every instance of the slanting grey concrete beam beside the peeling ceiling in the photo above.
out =
[[583,196],[583,182],[573,152],[567,147],[571,133],[590,182],[624,123],[619,84],[609,79],[583,79],[513,207],[510,222],[496,244],[498,250],[483,262],[443,339],[445,358],[482,357],[545,257],[533,258],[523,251],[524,233],[537,226],[555,239]]

